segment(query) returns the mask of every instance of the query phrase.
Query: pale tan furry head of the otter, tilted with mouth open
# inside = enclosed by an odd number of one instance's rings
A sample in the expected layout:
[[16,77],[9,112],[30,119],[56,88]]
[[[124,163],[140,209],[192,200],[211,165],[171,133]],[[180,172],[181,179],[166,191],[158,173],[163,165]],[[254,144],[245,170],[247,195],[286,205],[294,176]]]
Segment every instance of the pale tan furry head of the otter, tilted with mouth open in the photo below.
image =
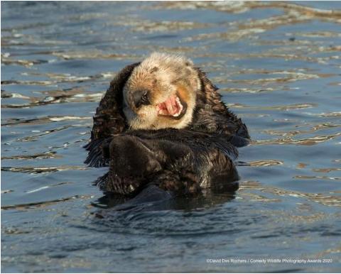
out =
[[123,111],[133,129],[185,128],[192,121],[200,78],[193,62],[153,53],[131,72]]

